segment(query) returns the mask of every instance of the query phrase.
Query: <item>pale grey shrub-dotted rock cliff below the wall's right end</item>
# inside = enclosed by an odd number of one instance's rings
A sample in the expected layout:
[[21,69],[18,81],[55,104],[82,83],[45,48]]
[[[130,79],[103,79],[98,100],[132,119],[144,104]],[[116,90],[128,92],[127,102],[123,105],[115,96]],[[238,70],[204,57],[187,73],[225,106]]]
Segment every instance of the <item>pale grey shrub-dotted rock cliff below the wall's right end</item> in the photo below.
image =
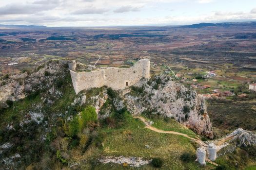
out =
[[203,97],[196,91],[160,75],[141,80],[125,94],[129,111],[133,114],[158,114],[174,118],[197,134],[213,138],[212,124]]

